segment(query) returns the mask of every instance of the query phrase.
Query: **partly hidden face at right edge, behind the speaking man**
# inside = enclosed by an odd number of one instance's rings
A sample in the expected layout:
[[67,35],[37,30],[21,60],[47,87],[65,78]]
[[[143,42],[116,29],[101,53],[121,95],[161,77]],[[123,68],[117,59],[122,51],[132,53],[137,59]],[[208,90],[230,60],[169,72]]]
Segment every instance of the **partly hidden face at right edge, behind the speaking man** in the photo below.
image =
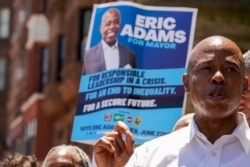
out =
[[239,111],[245,113],[248,125],[250,126],[250,71],[247,71],[246,77],[248,77],[248,90],[243,92],[242,99],[240,101]]

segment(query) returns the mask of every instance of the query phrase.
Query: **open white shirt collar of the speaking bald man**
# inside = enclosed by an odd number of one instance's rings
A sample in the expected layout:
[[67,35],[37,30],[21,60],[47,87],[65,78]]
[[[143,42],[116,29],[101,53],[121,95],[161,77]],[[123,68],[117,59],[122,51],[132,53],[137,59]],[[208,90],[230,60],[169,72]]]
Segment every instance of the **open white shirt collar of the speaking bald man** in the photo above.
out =
[[[250,151],[250,128],[248,126],[246,117],[243,113],[239,112],[238,114],[239,124],[233,131],[232,135],[237,137],[237,139],[240,141],[243,149],[245,150],[246,154]],[[195,121],[194,117],[192,118],[190,124],[190,141],[194,138],[196,134],[200,134]]]

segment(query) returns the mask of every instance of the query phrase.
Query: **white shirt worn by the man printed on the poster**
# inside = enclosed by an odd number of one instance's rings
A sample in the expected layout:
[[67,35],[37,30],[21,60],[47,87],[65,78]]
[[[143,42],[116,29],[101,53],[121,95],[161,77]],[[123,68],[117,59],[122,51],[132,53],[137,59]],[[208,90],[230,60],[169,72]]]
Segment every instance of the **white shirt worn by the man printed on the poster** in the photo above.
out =
[[104,53],[104,60],[106,64],[106,70],[118,68],[120,60],[119,60],[119,49],[117,40],[115,44],[111,47],[102,40],[102,47]]

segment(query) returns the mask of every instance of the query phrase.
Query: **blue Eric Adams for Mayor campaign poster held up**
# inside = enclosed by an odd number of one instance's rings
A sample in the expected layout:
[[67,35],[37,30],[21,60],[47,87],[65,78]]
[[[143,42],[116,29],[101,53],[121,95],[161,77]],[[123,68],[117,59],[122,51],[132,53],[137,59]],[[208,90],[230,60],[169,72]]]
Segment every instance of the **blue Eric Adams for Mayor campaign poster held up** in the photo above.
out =
[[132,2],[93,6],[72,141],[93,144],[117,121],[136,144],[172,131],[183,115],[196,15]]

